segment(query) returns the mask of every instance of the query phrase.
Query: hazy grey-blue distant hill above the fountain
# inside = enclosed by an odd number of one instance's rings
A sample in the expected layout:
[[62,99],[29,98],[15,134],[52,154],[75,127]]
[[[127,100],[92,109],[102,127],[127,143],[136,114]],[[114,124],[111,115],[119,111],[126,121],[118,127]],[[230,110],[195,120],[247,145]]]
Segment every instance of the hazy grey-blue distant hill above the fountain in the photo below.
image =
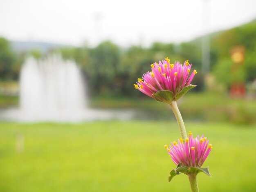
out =
[[56,43],[50,42],[41,42],[41,41],[11,41],[11,47],[14,51],[17,52],[25,52],[31,49],[38,49],[43,53],[51,50],[56,49],[58,47],[72,47],[70,45],[61,45]]

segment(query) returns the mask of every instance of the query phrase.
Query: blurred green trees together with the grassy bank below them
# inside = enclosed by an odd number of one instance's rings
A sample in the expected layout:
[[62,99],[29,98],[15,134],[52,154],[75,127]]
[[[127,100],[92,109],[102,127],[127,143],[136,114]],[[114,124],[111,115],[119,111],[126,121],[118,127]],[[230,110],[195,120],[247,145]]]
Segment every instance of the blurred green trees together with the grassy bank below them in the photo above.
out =
[[[62,46],[48,52],[40,49],[13,51],[10,42],[0,38],[0,87],[15,87],[20,67],[27,54],[39,59],[49,52],[58,52],[64,59],[75,60],[80,65],[88,84],[92,107],[140,107],[155,112],[155,118],[163,117],[169,109],[162,110],[162,105],[155,105],[154,100],[134,90],[133,84],[137,78],[141,78],[141,74],[150,70],[150,64],[168,56],[171,63],[175,60],[181,63],[189,60],[193,64],[193,69],[198,71],[193,79],[193,84],[198,86],[192,92],[201,93],[197,94],[197,99],[194,100],[193,93],[187,97],[188,100],[193,100],[193,105],[186,101],[186,98],[182,100],[180,105],[185,116],[209,120],[214,113],[213,121],[253,123],[256,121],[256,105],[255,102],[250,102],[250,99],[255,99],[256,94],[255,31],[256,20],[233,29],[209,34],[211,65],[210,73],[207,75],[201,72],[203,37],[181,44],[155,42],[150,47],[134,45],[126,48],[104,41],[97,47]],[[236,47],[243,50],[242,63],[234,62],[232,53]],[[229,90],[234,83],[246,85],[249,100],[230,98]],[[3,91],[0,94],[0,107],[17,105],[18,99],[15,98],[15,94],[14,98],[6,98],[2,93]],[[220,100],[225,102],[220,104]]]

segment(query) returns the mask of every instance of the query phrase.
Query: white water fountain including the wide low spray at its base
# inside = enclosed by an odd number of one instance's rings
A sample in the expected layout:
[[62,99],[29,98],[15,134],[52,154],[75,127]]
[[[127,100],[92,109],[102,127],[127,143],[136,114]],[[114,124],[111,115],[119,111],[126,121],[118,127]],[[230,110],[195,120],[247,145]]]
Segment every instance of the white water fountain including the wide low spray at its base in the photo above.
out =
[[129,119],[131,111],[106,111],[88,107],[86,88],[79,66],[61,56],[43,60],[28,57],[20,72],[20,107],[0,114],[10,121],[79,122]]

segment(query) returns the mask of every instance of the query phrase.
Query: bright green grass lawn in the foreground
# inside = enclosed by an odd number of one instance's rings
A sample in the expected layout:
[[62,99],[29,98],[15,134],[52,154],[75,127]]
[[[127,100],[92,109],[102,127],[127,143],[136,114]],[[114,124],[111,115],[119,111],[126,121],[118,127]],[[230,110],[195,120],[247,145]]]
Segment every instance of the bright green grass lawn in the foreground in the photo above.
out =
[[[212,178],[198,174],[200,191],[256,191],[255,125],[185,123],[213,145],[203,165]],[[177,138],[174,122],[0,123],[0,191],[187,192],[184,174],[168,183],[175,164],[164,145]]]

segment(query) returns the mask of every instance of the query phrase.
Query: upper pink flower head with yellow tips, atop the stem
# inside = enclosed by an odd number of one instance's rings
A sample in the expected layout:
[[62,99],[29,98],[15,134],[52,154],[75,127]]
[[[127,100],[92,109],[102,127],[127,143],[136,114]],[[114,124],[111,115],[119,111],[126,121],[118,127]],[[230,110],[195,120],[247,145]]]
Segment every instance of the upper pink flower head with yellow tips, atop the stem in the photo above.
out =
[[189,64],[188,60],[186,60],[183,65],[180,64],[180,62],[171,64],[170,59],[167,57],[165,60],[162,60],[162,62],[153,63],[151,69],[152,71],[143,74],[142,79],[138,78],[138,82],[134,84],[134,87],[158,101],[164,103],[169,102],[165,101],[166,98],[164,101],[161,98],[158,99],[159,94],[156,94],[157,92],[161,92],[161,97],[162,93],[164,93],[164,95],[167,93],[169,99],[177,100],[189,89],[195,87],[195,85],[191,85],[190,83],[195,74],[197,74],[197,71],[193,70],[189,76],[191,64]]

